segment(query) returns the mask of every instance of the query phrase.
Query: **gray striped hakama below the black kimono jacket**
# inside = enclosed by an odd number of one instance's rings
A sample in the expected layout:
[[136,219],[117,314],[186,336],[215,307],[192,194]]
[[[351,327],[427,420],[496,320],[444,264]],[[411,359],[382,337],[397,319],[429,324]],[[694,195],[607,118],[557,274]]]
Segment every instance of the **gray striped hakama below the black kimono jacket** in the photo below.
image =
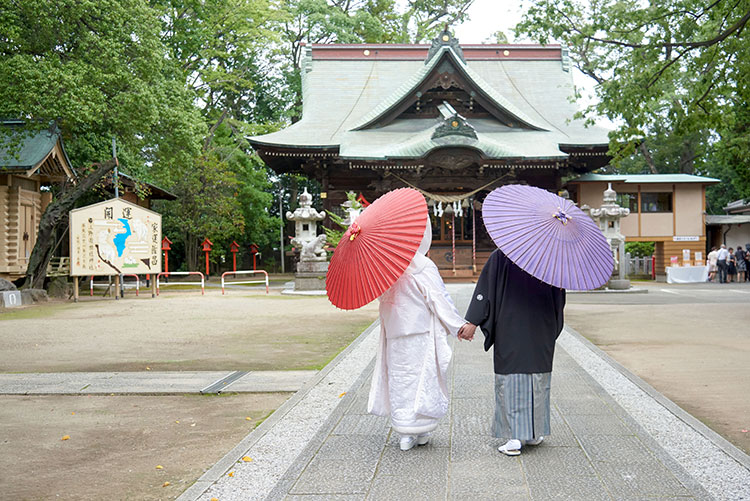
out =
[[508,440],[548,436],[551,379],[551,372],[495,374],[493,435]]

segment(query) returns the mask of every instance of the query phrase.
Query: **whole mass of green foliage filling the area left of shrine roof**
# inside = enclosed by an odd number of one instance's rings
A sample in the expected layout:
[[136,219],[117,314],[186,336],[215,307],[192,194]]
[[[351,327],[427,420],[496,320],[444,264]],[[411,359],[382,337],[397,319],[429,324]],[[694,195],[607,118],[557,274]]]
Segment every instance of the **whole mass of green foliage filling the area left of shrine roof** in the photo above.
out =
[[123,171],[177,195],[155,208],[188,268],[206,237],[216,261],[232,240],[270,256],[279,212],[319,187],[270,172],[246,137],[297,118],[302,44],[425,42],[472,1],[6,0],[0,116],[57,125],[82,176],[115,137]]

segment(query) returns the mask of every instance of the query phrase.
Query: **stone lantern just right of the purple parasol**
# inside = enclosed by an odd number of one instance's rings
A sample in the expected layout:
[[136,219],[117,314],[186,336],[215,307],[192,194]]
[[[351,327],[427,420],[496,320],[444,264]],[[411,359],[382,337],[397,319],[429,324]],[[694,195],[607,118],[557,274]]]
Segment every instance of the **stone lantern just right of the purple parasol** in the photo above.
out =
[[620,219],[630,214],[630,209],[617,205],[617,192],[612,189],[612,183],[608,183],[604,190],[604,200],[598,209],[584,205],[581,210],[588,214],[601,228],[615,260],[615,268],[612,272],[607,287],[610,289],[629,289],[630,280],[625,278],[625,236],[620,233]]

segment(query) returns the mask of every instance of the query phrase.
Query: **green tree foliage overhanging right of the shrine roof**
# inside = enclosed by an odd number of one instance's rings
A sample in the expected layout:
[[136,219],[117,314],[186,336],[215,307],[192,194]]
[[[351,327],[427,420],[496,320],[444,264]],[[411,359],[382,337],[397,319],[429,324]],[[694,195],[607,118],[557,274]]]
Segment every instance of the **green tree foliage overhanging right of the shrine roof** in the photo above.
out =
[[[595,80],[598,103],[583,114],[618,124],[610,144],[615,165],[637,152],[636,165],[625,161],[626,168],[692,174],[723,158],[733,162],[733,176],[746,178],[739,160],[750,145],[738,132],[747,131],[750,1],[527,5],[517,34],[564,43],[575,66]],[[748,193],[750,185],[739,188]]]

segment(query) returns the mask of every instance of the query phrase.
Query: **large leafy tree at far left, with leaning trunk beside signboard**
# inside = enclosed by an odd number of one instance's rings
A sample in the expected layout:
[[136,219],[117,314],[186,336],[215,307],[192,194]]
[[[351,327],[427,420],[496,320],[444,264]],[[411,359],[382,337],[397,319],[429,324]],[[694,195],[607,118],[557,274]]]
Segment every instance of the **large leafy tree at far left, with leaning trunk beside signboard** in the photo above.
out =
[[[204,128],[193,96],[173,78],[158,13],[144,0],[0,3],[0,115],[54,123],[80,174],[111,157],[125,168],[178,164],[199,151]],[[111,169],[112,163],[105,164]],[[107,168],[98,169],[103,176]],[[85,186],[97,179],[86,178]],[[85,190],[56,192],[45,234],[64,224]],[[51,227],[48,227],[51,225]],[[43,280],[49,238],[37,239],[28,276]]]

